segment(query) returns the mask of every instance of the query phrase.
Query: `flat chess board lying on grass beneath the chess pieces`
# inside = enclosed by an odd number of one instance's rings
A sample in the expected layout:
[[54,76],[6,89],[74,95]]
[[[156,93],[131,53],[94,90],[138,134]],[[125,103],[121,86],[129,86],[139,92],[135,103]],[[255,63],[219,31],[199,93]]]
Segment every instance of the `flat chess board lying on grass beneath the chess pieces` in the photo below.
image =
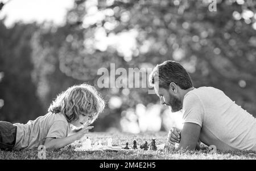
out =
[[[75,151],[128,151],[128,150],[134,150],[132,145],[128,145],[128,147],[130,149],[125,149],[126,145],[122,145],[122,146],[92,146],[92,148],[89,149],[85,149],[83,147],[78,147],[75,149]],[[156,147],[158,148],[158,150],[160,149],[164,149],[165,144],[159,144],[156,145]],[[140,149],[139,147],[137,147],[138,149]],[[148,149],[150,149],[150,147],[148,147]]]

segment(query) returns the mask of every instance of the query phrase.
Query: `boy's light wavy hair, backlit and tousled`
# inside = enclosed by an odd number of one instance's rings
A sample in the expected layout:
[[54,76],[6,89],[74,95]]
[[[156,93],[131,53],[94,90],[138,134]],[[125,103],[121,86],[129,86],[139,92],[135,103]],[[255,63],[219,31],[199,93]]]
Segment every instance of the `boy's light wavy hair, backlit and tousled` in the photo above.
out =
[[105,102],[96,88],[84,83],[69,87],[57,95],[48,112],[63,113],[69,123],[76,121],[79,114],[89,115],[90,123],[93,123],[104,108]]

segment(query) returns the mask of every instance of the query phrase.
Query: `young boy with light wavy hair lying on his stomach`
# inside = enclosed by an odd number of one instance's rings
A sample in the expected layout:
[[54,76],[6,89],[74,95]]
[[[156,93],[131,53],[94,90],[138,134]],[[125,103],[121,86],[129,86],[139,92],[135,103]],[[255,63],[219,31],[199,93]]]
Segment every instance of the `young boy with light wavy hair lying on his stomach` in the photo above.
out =
[[[67,146],[93,128],[88,125],[95,121],[104,107],[105,102],[94,87],[88,84],[70,87],[57,96],[45,116],[25,125],[0,121],[0,148],[32,149],[44,145],[58,149]],[[68,136],[69,124],[84,128]]]

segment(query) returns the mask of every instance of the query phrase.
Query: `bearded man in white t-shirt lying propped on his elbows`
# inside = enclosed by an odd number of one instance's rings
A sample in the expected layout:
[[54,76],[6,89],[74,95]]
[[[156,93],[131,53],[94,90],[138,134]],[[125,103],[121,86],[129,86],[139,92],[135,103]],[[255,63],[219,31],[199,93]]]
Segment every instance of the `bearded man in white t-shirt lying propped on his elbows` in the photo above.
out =
[[193,87],[188,72],[177,62],[165,61],[150,75],[156,95],[172,112],[183,109],[183,129],[173,128],[170,143],[194,150],[198,142],[222,150],[256,151],[256,119],[224,92]]

